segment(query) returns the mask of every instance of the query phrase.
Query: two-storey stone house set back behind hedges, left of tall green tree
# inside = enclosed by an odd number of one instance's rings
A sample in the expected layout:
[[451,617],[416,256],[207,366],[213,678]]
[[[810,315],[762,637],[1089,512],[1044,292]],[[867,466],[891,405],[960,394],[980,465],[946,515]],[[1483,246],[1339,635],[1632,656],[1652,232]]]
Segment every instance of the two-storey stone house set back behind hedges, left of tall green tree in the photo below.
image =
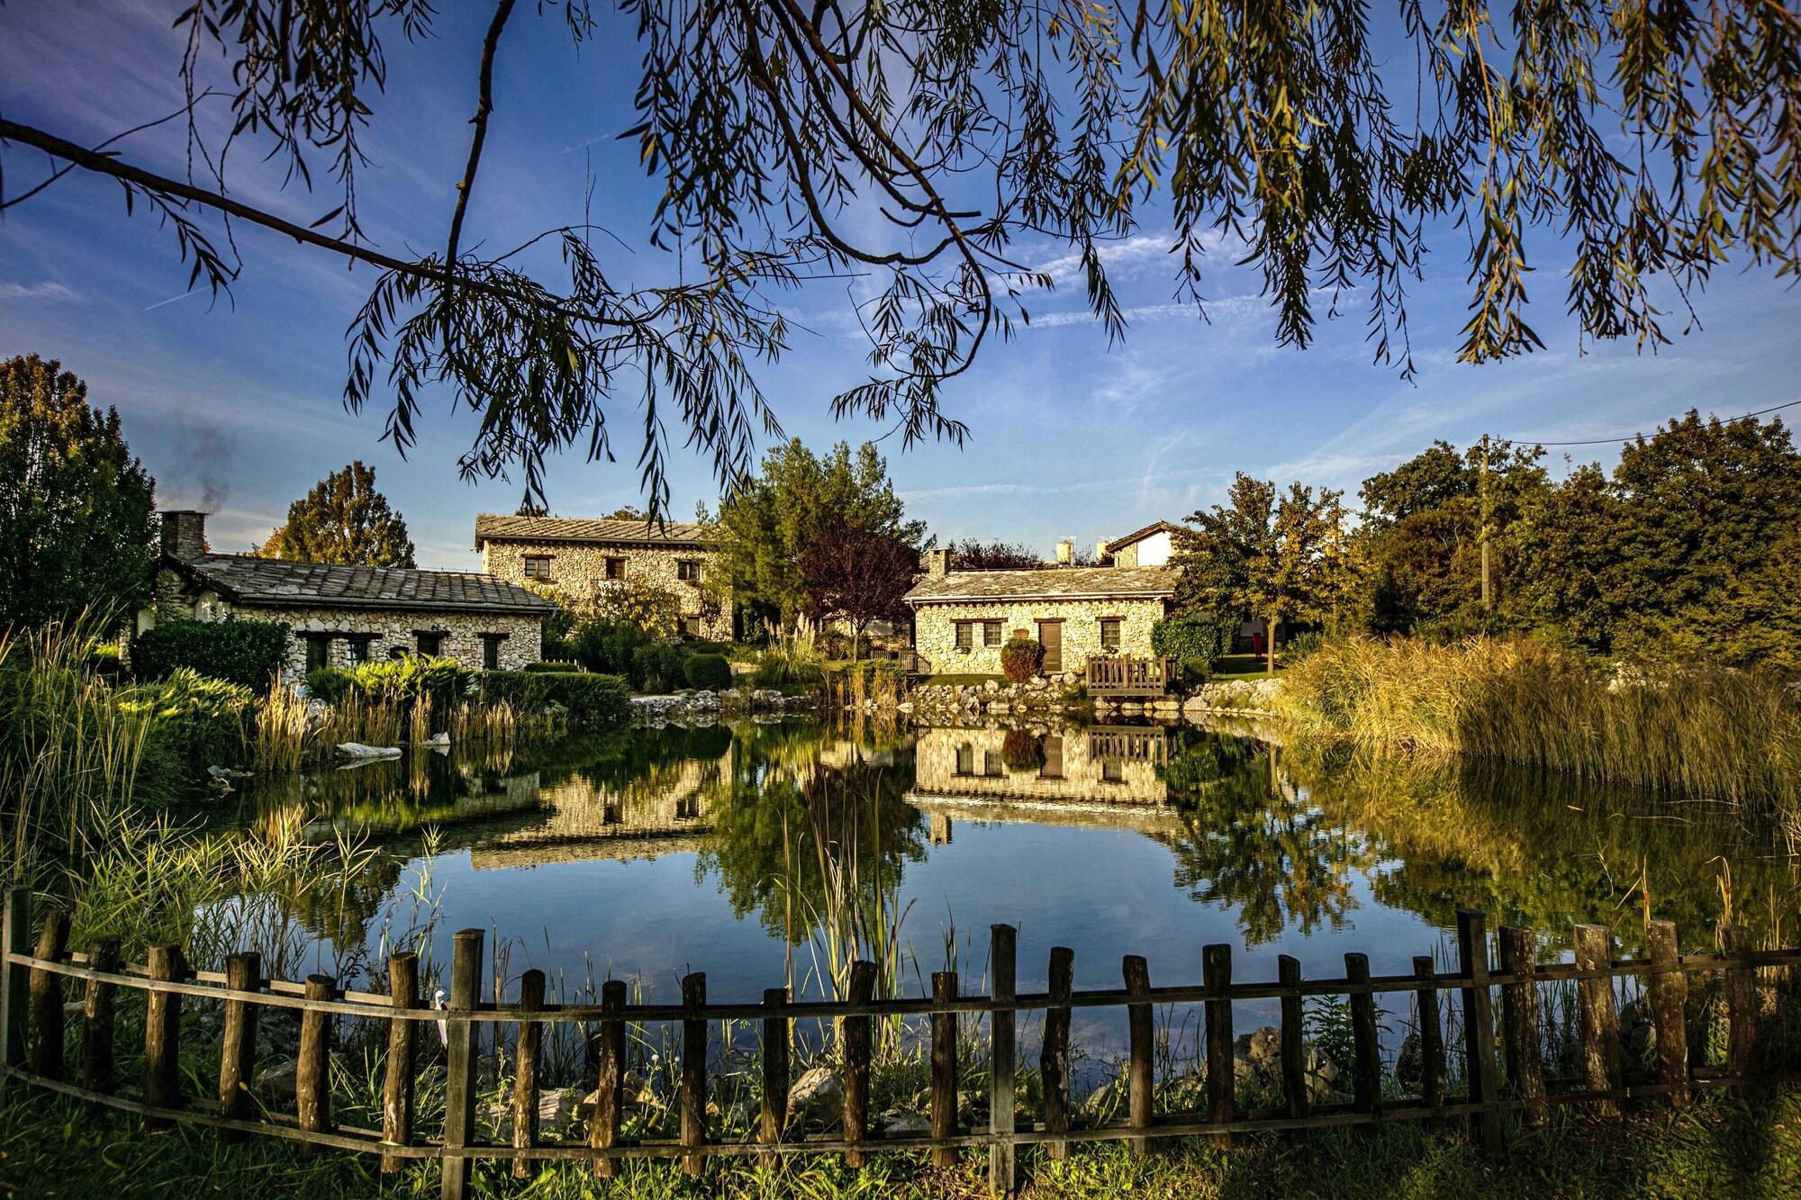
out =
[[701,587],[720,569],[702,524],[483,514],[475,517],[475,550],[490,575],[553,587],[578,602],[607,587],[661,587],[675,595],[684,634],[731,638],[731,604],[706,604]]

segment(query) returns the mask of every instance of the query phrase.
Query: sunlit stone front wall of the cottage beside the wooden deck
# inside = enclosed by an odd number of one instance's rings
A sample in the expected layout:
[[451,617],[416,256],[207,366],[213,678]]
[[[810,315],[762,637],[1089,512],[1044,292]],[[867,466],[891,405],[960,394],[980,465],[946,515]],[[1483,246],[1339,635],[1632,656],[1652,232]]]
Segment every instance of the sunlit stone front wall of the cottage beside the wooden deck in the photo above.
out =
[[967,602],[922,604],[913,618],[913,647],[931,663],[935,674],[1001,674],[1001,647],[983,645],[974,631],[974,649],[956,649],[956,622],[1000,620],[1001,643],[1023,631],[1037,638],[1039,620],[1063,620],[1063,670],[1081,670],[1091,654],[1100,654],[1100,618],[1120,618],[1118,652],[1149,658],[1151,625],[1163,616],[1162,600],[1034,600],[1025,604]]

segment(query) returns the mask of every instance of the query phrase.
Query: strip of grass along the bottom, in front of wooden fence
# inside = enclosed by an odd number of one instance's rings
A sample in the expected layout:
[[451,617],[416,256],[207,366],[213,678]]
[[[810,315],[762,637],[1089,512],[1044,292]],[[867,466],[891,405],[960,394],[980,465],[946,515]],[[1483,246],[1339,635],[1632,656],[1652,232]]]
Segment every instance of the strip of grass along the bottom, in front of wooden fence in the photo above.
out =
[[[713,1160],[701,1178],[674,1164],[623,1168],[594,1178],[587,1166],[562,1166],[529,1184],[504,1164],[475,1168],[475,1196],[589,1198],[715,1196],[724,1200],[958,1198],[987,1191],[987,1157],[965,1153],[956,1168],[926,1168],[915,1155],[872,1155],[863,1173],[830,1159]],[[1556,1110],[1543,1130],[1513,1130],[1506,1153],[1488,1162],[1468,1139],[1428,1135],[1414,1123],[1376,1139],[1351,1130],[1304,1141],[1243,1141],[1228,1151],[1178,1142],[1147,1159],[1118,1144],[1079,1146],[1064,1162],[1021,1151],[1028,1198],[1156,1196],[1794,1196],[1801,1189],[1801,1092],[1743,1101],[1709,1094],[1686,1110],[1648,1106],[1617,1121]],[[119,1114],[88,1115],[77,1101],[9,1083],[0,1097],[0,1195],[5,1196],[236,1196],[292,1195],[436,1196],[438,1164],[394,1177],[367,1157],[322,1151],[301,1160],[288,1142],[220,1146],[209,1130],[178,1126],[144,1135]]]

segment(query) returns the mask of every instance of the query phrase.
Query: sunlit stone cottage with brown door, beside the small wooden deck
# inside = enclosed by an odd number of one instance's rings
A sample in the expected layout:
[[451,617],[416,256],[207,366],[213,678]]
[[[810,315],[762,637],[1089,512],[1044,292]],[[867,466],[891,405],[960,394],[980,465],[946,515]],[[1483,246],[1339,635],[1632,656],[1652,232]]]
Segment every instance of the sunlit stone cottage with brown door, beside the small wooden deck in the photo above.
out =
[[1045,647],[1045,674],[1079,672],[1095,654],[1151,658],[1151,625],[1176,595],[1174,568],[951,571],[949,551],[926,553],[906,595],[913,649],[933,674],[1000,674],[1014,634]]

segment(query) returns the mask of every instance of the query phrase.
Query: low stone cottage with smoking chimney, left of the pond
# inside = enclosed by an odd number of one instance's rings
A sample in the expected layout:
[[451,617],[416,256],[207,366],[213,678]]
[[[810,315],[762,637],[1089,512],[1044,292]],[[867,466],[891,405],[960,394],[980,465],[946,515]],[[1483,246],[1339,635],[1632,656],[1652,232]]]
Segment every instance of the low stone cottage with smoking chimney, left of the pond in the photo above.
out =
[[162,514],[155,600],[137,629],[166,620],[283,622],[294,634],[286,674],[430,654],[465,667],[517,670],[538,659],[557,611],[524,587],[472,571],[326,566],[207,551],[205,514]]

